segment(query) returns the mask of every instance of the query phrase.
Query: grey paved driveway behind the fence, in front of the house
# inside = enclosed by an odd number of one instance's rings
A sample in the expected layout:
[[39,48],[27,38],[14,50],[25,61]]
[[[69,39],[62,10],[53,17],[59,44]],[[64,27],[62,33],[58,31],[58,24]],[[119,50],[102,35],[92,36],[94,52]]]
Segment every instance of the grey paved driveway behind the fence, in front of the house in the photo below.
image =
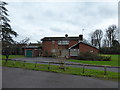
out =
[[[48,58],[48,57],[33,57],[33,58],[16,58],[15,60],[24,60],[30,63],[33,63],[33,61],[58,61],[58,59],[56,58]],[[70,61],[66,61],[69,63],[72,63]],[[82,67],[82,66],[75,66],[75,65],[69,65],[69,66],[73,66],[73,67]],[[96,69],[96,70],[104,70],[103,67],[90,67],[90,66],[86,66],[85,68],[88,69]],[[107,68],[107,71],[112,71],[112,72],[120,72],[120,70],[118,70],[118,68]]]

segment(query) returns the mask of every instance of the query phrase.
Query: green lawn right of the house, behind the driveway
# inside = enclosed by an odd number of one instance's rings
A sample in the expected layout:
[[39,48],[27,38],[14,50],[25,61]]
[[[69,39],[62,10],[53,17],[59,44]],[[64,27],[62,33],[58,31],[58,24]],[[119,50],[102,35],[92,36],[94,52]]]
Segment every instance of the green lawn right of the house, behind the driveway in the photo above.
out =
[[120,64],[118,64],[118,60],[120,60],[120,55],[103,55],[103,56],[111,56],[111,61],[87,61],[87,60],[74,60],[74,59],[70,59],[68,61],[83,63],[83,64],[93,64],[93,65],[120,66]]

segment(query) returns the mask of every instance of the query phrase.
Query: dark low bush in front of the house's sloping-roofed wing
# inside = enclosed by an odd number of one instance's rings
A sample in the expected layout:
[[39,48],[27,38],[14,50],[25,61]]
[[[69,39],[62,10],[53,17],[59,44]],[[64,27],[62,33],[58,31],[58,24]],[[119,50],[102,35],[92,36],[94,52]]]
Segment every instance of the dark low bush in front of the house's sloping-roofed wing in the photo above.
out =
[[90,52],[80,53],[77,57],[78,60],[90,60],[90,61],[110,61],[111,57],[109,56],[99,56]]

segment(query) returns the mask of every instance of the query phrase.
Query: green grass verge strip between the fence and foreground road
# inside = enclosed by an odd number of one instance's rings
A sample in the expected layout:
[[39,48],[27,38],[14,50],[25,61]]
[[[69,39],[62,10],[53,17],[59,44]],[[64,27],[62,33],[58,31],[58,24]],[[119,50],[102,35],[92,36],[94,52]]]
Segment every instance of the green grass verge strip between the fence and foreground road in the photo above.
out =
[[72,75],[81,75],[81,76],[95,77],[95,78],[115,80],[115,81],[120,80],[120,76],[118,75],[119,73],[117,72],[107,71],[107,74],[104,75],[104,71],[102,70],[85,69],[85,72],[83,73],[83,68],[70,67],[70,66],[66,66],[66,70],[64,71],[62,69],[59,69],[59,66],[57,65],[50,65],[50,69],[48,69],[47,64],[37,64],[37,67],[35,67],[35,64],[33,63],[22,63],[19,61],[16,61],[16,62],[8,61],[5,64],[5,60],[2,61],[2,66],[24,68],[24,69],[38,70],[38,71],[66,73],[66,74],[72,74]]

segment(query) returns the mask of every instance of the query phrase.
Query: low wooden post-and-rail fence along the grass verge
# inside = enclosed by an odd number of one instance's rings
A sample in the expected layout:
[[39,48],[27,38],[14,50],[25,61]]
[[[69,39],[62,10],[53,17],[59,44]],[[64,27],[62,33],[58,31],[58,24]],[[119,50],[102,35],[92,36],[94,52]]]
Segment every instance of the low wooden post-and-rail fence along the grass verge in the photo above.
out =
[[[27,63],[28,61],[25,61],[25,60],[12,60],[12,59],[9,59],[11,61],[20,61],[20,62],[23,62],[23,66],[25,66],[25,63]],[[116,66],[107,66],[107,65],[91,65],[91,64],[81,64],[81,63],[68,63],[68,62],[58,62],[58,61],[53,61],[53,62],[48,62],[48,61],[31,61],[32,63],[35,63],[35,66],[34,67],[37,67],[37,64],[48,64],[48,69],[50,69],[50,65],[51,64],[58,64],[60,66],[65,66],[65,65],[76,65],[76,66],[82,66],[83,68],[83,73],[85,73],[85,66],[89,66],[89,67],[103,67],[104,68],[104,75],[107,74],[107,68],[120,68],[120,67],[116,67]],[[7,63],[7,62],[6,62]],[[15,62],[13,63],[13,65],[15,65]],[[65,70],[65,68],[61,68],[63,70]]]

